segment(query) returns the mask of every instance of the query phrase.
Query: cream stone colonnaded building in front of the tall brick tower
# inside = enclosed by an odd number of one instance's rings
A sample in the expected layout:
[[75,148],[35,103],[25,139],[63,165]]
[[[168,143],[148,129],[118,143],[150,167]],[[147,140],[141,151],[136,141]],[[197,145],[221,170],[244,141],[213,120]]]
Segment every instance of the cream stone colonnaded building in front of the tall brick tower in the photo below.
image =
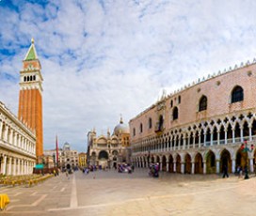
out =
[[36,134],[0,101],[0,173],[26,175],[36,164]]

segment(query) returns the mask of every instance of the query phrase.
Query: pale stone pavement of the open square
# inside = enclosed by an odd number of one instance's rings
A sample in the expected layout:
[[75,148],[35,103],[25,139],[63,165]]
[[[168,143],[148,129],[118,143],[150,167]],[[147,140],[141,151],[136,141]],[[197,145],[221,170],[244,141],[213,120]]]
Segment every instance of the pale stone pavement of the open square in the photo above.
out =
[[31,188],[0,187],[0,193],[10,198],[0,216],[256,215],[256,177],[78,171],[70,179],[61,174]]

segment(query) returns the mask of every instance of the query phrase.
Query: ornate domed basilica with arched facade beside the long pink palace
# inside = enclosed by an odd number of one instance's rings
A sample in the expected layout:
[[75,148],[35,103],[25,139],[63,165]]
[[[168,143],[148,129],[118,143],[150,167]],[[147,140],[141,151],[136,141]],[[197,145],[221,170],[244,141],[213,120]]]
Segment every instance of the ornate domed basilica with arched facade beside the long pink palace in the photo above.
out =
[[102,167],[117,167],[118,164],[130,163],[129,126],[124,124],[120,117],[118,124],[110,135],[97,136],[96,131],[88,132],[88,164]]

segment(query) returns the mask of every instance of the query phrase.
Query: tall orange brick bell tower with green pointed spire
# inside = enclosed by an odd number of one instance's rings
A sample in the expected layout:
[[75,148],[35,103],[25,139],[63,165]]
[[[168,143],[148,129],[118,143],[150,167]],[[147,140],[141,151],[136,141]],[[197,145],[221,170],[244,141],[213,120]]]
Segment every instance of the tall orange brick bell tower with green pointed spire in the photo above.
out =
[[20,71],[20,96],[18,118],[29,128],[36,131],[37,162],[43,154],[42,133],[42,76],[40,73],[40,60],[38,58],[34,39],[25,54],[23,69]]

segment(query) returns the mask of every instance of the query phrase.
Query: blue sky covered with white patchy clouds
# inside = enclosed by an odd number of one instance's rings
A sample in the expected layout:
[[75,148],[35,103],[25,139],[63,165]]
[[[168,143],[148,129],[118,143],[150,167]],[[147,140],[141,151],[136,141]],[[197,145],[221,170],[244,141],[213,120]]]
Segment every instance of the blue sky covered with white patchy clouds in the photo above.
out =
[[208,74],[256,57],[254,0],[0,0],[0,100],[18,113],[24,56],[35,39],[43,76],[44,149],[87,151]]

